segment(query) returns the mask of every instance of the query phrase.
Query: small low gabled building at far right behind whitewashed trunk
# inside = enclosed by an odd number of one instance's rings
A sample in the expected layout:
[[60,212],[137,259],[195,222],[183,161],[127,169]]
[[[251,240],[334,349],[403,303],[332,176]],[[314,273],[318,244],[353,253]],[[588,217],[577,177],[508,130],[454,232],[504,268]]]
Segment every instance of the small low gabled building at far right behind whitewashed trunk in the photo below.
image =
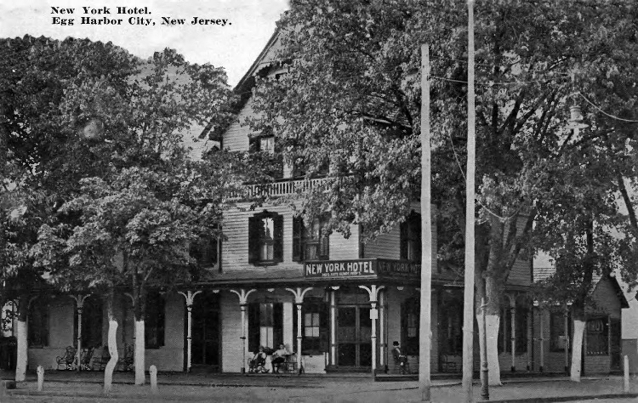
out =
[[[542,281],[553,267],[535,268],[534,280]],[[585,307],[582,373],[600,374],[622,369],[621,318],[629,307],[615,275],[595,276],[591,304]],[[570,305],[538,307],[535,304],[534,337],[539,340],[535,362],[545,372],[568,372],[572,359],[573,321]],[[542,320],[540,319],[542,318]]]

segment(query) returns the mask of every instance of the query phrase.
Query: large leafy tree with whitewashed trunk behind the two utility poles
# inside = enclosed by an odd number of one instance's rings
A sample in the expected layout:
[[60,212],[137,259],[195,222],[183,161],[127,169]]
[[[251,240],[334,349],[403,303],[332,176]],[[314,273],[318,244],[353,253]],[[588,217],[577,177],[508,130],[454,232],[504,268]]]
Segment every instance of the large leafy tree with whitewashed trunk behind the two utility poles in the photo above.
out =
[[[490,382],[500,384],[500,296],[521,251],[531,246],[538,210],[552,205],[537,196],[544,172],[563,156],[615,139],[605,124],[581,138],[563,131],[568,106],[582,101],[575,93],[605,110],[634,105],[637,8],[493,1],[477,4],[475,12],[475,297],[487,301]],[[284,161],[306,175],[329,166],[323,185],[302,196],[300,210],[332,212],[330,228],[345,235],[350,224],[362,224],[367,238],[404,220],[420,188],[416,72],[420,44],[429,43],[434,200],[446,225],[441,263],[463,267],[465,27],[464,4],[450,8],[438,0],[292,3],[279,22],[278,60],[290,71],[257,80],[249,124],[275,133]],[[590,105],[584,110],[588,117],[596,112]]]

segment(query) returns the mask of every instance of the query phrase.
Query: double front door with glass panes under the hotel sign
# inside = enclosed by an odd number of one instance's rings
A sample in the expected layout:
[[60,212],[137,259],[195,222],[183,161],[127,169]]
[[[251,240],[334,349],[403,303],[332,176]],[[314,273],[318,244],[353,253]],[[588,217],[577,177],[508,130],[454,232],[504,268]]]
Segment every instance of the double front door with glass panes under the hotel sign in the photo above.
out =
[[371,367],[372,320],[370,307],[339,306],[337,310],[337,344],[339,367]]

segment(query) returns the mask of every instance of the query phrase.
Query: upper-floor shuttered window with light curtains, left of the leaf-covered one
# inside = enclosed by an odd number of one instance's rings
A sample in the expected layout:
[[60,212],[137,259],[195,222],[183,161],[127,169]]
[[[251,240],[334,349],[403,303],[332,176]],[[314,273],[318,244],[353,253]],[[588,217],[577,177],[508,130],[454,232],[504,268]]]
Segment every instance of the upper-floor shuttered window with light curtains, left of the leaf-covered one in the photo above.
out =
[[283,261],[283,217],[263,212],[249,218],[248,262],[274,264]]

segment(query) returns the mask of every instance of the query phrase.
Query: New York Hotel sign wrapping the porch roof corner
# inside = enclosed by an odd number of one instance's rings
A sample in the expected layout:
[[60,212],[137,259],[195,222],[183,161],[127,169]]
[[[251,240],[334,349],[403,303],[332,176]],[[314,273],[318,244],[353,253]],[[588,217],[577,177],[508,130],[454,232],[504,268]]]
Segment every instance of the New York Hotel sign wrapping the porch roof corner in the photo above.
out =
[[359,259],[311,261],[304,264],[304,277],[310,279],[414,277],[421,265],[403,260]]

